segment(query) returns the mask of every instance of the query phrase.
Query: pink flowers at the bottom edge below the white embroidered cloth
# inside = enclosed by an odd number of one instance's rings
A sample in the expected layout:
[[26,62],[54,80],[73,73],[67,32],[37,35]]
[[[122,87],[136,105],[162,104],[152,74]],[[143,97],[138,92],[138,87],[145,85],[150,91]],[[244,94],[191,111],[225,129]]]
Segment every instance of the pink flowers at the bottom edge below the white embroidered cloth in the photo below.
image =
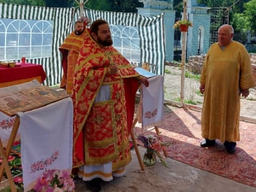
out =
[[40,192],[71,192],[74,191],[74,180],[70,170],[50,169],[38,177],[32,191]]

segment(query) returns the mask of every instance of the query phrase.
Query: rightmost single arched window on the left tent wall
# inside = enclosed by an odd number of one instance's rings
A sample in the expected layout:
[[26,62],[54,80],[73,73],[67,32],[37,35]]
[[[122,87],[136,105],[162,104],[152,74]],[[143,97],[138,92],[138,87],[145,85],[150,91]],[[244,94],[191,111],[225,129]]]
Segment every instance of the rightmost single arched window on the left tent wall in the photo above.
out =
[[51,57],[53,26],[48,21],[37,21],[31,31],[30,58]]

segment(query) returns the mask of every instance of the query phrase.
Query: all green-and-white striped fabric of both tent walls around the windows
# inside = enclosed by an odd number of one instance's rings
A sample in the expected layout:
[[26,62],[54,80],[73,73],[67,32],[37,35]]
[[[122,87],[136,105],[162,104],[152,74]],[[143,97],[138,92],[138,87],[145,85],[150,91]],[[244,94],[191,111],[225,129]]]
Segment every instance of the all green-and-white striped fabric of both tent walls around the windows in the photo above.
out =
[[[0,3],[0,14],[0,18],[53,21],[52,56],[30,59],[28,61],[43,66],[47,75],[44,84],[59,84],[63,73],[61,64],[62,55],[60,54],[59,46],[73,31],[74,20],[79,17],[79,9]],[[85,14],[91,21],[101,18],[109,24],[138,27],[141,48],[140,63],[148,62],[155,64],[156,73],[164,73],[165,46],[163,39],[163,14],[146,17],[136,13],[103,12],[98,10],[85,10]]]

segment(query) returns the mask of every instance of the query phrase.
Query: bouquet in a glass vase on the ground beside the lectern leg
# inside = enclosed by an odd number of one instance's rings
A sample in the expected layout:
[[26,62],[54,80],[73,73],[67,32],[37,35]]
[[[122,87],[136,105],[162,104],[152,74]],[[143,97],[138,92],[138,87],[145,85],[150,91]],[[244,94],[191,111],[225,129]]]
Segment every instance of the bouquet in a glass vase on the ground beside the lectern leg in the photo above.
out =
[[154,165],[156,162],[155,155],[157,155],[162,165],[167,166],[163,150],[165,149],[165,146],[168,146],[169,144],[164,143],[160,135],[148,135],[146,137],[139,135],[138,140],[141,141],[147,149],[143,158],[143,162],[146,165]]

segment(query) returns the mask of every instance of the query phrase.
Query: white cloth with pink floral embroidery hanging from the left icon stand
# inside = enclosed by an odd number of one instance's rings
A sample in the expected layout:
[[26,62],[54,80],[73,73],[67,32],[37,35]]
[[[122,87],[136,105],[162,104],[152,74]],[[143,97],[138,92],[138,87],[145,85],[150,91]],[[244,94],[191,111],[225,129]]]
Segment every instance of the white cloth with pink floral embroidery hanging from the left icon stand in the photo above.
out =
[[20,116],[24,191],[43,171],[72,169],[73,102],[65,98]]

